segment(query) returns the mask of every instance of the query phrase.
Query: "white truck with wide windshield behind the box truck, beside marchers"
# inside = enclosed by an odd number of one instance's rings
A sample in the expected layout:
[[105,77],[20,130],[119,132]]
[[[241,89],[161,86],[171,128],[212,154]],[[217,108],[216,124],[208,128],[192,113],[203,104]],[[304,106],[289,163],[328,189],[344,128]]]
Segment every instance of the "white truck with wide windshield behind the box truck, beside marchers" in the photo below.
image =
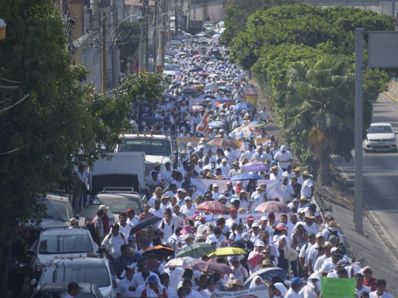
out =
[[176,155],[173,140],[168,136],[152,134],[131,134],[123,135],[123,141],[116,146],[115,152],[145,153],[145,178],[148,179],[149,173],[153,169],[155,162],[162,164],[161,171],[165,169],[165,163],[169,161],[173,166]]

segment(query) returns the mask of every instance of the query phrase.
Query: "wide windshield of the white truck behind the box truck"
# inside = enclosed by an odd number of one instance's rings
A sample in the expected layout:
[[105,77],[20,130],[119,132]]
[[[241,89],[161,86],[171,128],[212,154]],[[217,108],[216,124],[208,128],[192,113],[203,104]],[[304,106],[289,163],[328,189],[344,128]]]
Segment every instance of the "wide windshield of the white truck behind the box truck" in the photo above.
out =
[[147,155],[170,156],[169,140],[124,139],[118,148],[119,152],[145,152]]

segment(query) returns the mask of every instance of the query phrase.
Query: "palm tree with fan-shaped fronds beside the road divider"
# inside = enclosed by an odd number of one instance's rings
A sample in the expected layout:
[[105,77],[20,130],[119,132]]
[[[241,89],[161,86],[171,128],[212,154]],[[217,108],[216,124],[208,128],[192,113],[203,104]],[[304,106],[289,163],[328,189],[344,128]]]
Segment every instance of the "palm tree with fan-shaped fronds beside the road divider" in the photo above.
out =
[[325,55],[292,64],[287,82],[278,88],[285,102],[282,129],[287,134],[309,131],[305,141],[319,161],[323,185],[332,182],[330,154],[337,136],[354,131],[354,83],[341,57]]

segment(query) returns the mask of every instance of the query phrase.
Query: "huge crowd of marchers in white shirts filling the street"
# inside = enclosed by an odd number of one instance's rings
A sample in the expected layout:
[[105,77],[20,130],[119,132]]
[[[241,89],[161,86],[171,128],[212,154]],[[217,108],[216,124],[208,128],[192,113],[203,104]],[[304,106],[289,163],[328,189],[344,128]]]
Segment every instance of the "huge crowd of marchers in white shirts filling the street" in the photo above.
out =
[[[391,297],[386,281],[374,278],[371,267],[361,268],[350,260],[333,214],[321,214],[311,202],[315,189],[311,174],[297,166],[286,145],[267,136],[266,107],[259,112],[255,107],[234,108],[245,102],[244,90],[250,85],[245,72],[226,60],[227,49],[217,45],[217,38],[203,36],[185,41],[179,51],[174,63],[180,68],[159,100],[156,121],[132,115],[130,123],[133,131],[175,134],[183,144],[184,138],[197,137],[198,144],[186,143],[177,165],[154,164],[148,177],[153,194],[141,214],[128,209],[119,215],[118,224],[109,226],[107,208],[102,205],[93,220],[99,244],[107,247],[120,279],[117,296],[208,298],[267,284],[270,298],[319,298],[321,278],[329,277],[355,280],[356,298]],[[199,97],[192,100],[184,90],[196,86]],[[194,109],[200,100],[202,105]],[[234,131],[244,127],[250,129]],[[241,143],[237,149],[208,146],[207,138]],[[252,164],[260,166],[248,166]],[[245,174],[256,178],[231,179]],[[194,178],[213,181],[201,191]],[[267,181],[272,180],[277,194],[267,192]],[[198,209],[214,201],[229,211],[218,215]],[[289,211],[266,212],[256,218],[256,208],[268,202],[285,204]],[[140,221],[153,217],[161,220],[134,231]],[[235,248],[244,253],[200,256],[198,261],[228,266],[229,273],[176,266],[173,260],[195,243],[207,243],[215,251]],[[159,246],[173,253],[150,249]],[[266,279],[258,274],[265,268],[282,269],[283,274]]]

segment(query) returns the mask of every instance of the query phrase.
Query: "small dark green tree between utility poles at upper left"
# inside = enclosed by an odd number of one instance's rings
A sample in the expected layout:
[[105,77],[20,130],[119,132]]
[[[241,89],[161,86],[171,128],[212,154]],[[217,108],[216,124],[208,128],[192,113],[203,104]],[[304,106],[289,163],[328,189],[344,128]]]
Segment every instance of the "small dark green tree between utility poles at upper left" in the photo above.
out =
[[137,22],[124,21],[119,24],[117,42],[120,46],[120,71],[127,74],[127,63],[136,52],[140,41],[141,25]]

